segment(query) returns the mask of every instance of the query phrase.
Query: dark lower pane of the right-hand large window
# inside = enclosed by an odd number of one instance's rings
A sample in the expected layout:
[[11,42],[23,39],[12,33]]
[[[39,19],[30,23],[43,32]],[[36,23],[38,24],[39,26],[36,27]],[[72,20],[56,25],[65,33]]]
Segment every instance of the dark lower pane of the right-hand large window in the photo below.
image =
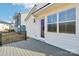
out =
[[59,32],[75,34],[75,22],[59,23]]

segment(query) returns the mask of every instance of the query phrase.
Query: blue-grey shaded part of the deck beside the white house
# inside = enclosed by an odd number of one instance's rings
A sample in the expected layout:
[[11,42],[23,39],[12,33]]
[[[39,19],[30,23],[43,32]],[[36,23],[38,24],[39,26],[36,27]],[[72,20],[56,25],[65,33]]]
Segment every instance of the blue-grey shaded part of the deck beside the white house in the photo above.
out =
[[15,43],[5,44],[4,46],[17,47],[21,49],[36,51],[44,53],[47,56],[78,56],[77,54],[38,41],[36,39],[23,40]]

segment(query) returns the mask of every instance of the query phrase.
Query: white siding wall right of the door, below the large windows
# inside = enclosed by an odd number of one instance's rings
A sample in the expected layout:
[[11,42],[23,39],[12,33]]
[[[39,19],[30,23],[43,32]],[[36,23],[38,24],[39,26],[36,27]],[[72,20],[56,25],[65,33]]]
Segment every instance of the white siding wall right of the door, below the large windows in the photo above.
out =
[[[76,14],[78,14],[79,13],[79,11],[78,11],[79,10],[78,5],[79,4],[73,5],[71,7],[67,7],[67,8],[64,8],[64,9],[59,10],[59,11],[63,11],[65,9],[69,9],[69,8],[72,8],[72,7],[75,6],[77,8]],[[78,17],[78,15],[77,15],[77,17]],[[51,45],[60,47],[62,49],[71,51],[73,53],[79,54],[79,52],[78,52],[79,51],[79,46],[78,46],[79,45],[79,30],[78,30],[79,29],[79,25],[78,25],[79,19],[76,18],[76,20],[77,20],[76,34],[47,32],[45,42],[47,42],[47,43],[49,43]]]

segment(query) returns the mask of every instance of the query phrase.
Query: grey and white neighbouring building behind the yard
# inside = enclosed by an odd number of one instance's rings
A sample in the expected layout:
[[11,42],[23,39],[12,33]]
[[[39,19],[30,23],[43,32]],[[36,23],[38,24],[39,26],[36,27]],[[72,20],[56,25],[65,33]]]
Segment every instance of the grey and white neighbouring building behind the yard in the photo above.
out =
[[16,32],[26,31],[25,18],[27,13],[16,13],[13,17],[13,28]]

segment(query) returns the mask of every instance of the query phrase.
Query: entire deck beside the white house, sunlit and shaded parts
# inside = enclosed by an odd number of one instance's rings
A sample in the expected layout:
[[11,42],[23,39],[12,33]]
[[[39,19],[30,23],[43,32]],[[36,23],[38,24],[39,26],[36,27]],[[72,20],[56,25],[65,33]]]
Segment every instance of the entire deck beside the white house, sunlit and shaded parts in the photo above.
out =
[[0,47],[1,56],[77,56],[74,53],[49,45],[47,43],[29,39],[5,44]]

